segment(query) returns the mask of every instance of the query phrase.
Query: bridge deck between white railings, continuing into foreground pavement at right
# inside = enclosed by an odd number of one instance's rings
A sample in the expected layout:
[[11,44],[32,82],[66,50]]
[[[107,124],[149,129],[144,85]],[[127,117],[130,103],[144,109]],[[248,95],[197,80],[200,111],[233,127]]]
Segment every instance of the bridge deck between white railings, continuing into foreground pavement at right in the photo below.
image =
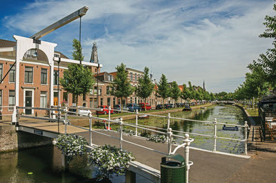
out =
[[[19,125],[21,127],[51,131],[57,134],[57,123],[55,122],[21,121]],[[59,128],[60,132],[63,133],[64,125],[60,124]],[[85,129],[68,126],[67,131],[68,133],[76,133],[79,136],[89,138],[89,132]],[[119,134],[112,131],[100,132],[119,138]],[[124,136],[123,138],[124,140],[156,149],[157,151],[164,153],[168,151],[167,144],[149,142],[142,138],[129,136]],[[119,147],[119,140],[96,132],[92,132],[92,143],[98,145],[111,144]],[[137,147],[128,142],[123,142],[123,148],[131,151],[138,162],[160,170],[161,157],[164,155]],[[184,149],[179,149],[177,153],[184,155]],[[275,167],[275,159],[275,157],[270,157],[269,160],[245,159],[190,149],[190,160],[194,164],[190,167],[189,180],[190,182],[274,182],[276,174],[272,167]]]

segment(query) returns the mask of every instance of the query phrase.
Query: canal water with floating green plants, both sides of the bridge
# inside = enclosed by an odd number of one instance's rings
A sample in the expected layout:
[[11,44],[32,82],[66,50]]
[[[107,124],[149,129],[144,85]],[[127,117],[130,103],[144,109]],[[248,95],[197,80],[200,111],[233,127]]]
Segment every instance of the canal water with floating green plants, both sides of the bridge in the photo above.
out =
[[[213,105],[207,109],[193,109],[193,111],[181,111],[170,114],[177,118],[190,118],[195,120],[226,122],[236,125],[244,125],[243,111],[232,105]],[[128,120],[135,122],[135,120]],[[150,125],[166,129],[167,120],[164,118],[150,117],[139,120],[141,125]],[[190,122],[186,120],[170,120],[170,127],[177,131],[190,133],[203,133],[213,135],[213,125],[202,122]],[[113,129],[117,127],[112,126]],[[143,131],[140,131],[143,132]],[[178,133],[184,136],[183,133]],[[239,131],[223,131],[222,126],[217,127],[217,136],[227,138],[244,138],[243,129]],[[213,150],[213,138],[191,136],[195,141],[193,147]],[[181,142],[180,139],[177,139]],[[217,151],[228,153],[244,153],[244,143],[233,140],[217,140]],[[56,147],[46,146],[18,152],[0,154],[0,182],[94,182],[95,167],[88,166],[86,158],[77,158],[70,162],[68,169],[61,168],[61,151]],[[110,177],[112,182],[125,182],[124,176]],[[150,182],[137,175],[137,182]]]

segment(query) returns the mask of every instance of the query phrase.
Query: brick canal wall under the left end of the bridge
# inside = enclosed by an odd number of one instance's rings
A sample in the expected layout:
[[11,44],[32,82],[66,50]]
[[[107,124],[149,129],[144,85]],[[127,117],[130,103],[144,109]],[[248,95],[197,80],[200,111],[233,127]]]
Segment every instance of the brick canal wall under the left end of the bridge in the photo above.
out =
[[16,131],[14,125],[0,126],[0,152],[17,151],[52,144],[52,138]]

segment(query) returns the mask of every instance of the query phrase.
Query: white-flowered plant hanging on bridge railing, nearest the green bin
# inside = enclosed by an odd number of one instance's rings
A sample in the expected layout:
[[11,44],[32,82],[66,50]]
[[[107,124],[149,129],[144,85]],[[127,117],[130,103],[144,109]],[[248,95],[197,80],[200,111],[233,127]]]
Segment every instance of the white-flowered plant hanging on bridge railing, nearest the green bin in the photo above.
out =
[[128,162],[132,160],[135,160],[132,153],[109,144],[95,147],[88,153],[89,163],[98,168],[98,179],[109,177],[110,174],[124,175],[128,168]]

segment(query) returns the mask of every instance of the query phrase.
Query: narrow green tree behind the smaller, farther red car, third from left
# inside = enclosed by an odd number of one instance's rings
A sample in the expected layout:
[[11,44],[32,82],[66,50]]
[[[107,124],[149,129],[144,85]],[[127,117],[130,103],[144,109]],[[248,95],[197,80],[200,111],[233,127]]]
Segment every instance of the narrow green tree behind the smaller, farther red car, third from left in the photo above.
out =
[[153,91],[153,87],[155,87],[155,85],[153,85],[153,83],[150,80],[150,76],[148,74],[149,71],[150,69],[148,69],[148,67],[144,68],[144,76],[138,79],[139,85],[136,89],[137,96],[144,98],[145,100],[145,110],[146,110],[146,98],[150,96],[150,94]]

